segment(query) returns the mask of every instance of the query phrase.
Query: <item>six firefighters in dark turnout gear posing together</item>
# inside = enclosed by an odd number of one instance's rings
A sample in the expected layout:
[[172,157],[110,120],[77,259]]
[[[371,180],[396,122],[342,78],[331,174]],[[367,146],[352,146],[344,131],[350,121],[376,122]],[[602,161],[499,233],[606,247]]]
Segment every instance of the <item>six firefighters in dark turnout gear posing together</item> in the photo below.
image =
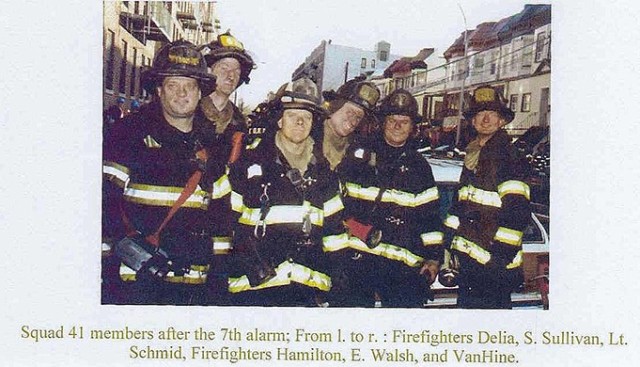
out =
[[251,136],[229,96],[253,68],[229,33],[169,43],[142,75],[153,101],[106,130],[103,303],[422,307],[440,273],[460,307],[511,307],[529,188],[496,90],[465,113],[477,137],[443,220],[409,92],[301,78]]

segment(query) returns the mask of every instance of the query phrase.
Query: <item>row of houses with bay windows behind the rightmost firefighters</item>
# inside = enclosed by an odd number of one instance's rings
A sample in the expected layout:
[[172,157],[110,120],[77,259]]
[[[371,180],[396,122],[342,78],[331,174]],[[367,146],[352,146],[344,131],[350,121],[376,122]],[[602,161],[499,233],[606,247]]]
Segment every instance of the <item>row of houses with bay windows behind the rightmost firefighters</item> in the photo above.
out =
[[[514,136],[532,126],[549,126],[551,92],[551,5],[525,5],[517,14],[467,30],[444,52],[445,77],[430,78],[422,97],[427,122],[457,116],[481,85],[497,87],[515,118]],[[463,107],[464,109],[464,107]]]

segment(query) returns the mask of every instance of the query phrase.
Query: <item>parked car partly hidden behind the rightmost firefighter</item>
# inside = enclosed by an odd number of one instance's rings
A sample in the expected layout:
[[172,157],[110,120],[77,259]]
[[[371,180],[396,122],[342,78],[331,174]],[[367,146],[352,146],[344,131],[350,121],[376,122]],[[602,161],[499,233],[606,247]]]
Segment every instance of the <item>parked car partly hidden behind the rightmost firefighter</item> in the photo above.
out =
[[[424,155],[429,162],[440,192],[440,214],[444,219],[460,184],[463,159],[438,154]],[[532,203],[531,219],[522,239],[524,253],[522,269],[524,282],[511,295],[514,307],[544,308],[549,306],[549,209],[546,205]],[[426,307],[453,308],[457,299],[457,287],[445,287],[436,279],[431,288],[434,301]]]

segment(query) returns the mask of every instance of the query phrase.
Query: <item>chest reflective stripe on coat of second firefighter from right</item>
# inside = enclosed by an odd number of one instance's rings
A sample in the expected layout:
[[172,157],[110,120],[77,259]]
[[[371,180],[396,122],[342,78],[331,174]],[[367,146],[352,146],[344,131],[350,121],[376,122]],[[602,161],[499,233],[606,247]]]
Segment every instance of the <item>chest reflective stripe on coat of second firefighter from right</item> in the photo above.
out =
[[[375,201],[378,197],[378,193],[380,192],[380,188],[378,187],[362,187],[352,182],[347,182],[345,187],[347,189],[347,196],[368,201]],[[415,208],[438,200],[438,198],[439,195],[437,187],[428,188],[418,194],[412,194],[396,189],[388,189],[382,194],[381,201]]]

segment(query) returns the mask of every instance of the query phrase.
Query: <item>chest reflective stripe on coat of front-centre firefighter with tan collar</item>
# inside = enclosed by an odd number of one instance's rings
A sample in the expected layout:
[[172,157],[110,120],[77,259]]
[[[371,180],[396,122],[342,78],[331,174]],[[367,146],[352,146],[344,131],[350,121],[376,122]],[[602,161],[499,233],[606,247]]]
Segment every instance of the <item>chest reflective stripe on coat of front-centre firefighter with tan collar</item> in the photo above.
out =
[[[308,202],[304,205],[274,205],[269,208],[265,224],[302,223],[305,215],[309,213],[311,224],[322,227],[324,217],[322,210],[311,206]],[[260,221],[260,208],[244,208],[238,219],[239,223],[255,225]]]

